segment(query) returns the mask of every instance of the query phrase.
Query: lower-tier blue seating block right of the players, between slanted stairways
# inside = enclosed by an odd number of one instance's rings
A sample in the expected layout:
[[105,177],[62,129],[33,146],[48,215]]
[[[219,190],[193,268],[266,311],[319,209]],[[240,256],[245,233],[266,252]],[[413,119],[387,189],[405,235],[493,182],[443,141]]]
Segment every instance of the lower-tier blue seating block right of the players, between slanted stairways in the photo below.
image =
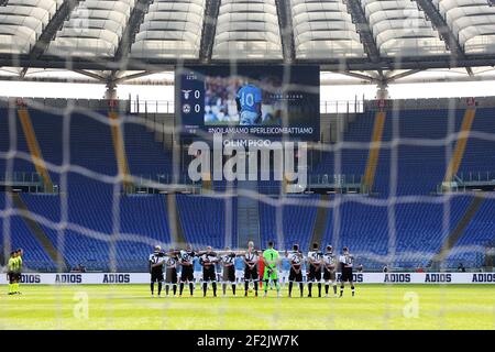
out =
[[362,196],[352,197],[341,198],[343,204],[330,212],[323,243],[362,253],[359,262],[369,270],[429,265],[469,202],[469,197],[442,199],[451,209],[446,226],[443,202],[396,205],[393,211],[380,199],[361,204]]

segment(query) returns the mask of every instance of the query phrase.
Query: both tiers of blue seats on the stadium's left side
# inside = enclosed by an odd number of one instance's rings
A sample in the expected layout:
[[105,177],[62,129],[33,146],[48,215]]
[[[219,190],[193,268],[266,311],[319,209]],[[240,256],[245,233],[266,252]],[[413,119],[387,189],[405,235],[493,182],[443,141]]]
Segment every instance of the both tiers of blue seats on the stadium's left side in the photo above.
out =
[[[96,113],[95,116],[100,119],[106,118],[105,112]],[[116,154],[108,124],[98,121],[95,117],[77,112],[69,117],[61,117],[32,110],[31,117],[43,156],[48,163],[55,166],[62,165],[64,158],[62,151],[65,150],[63,147],[62,131],[64,121],[67,121],[70,125],[70,139],[68,141],[70,147],[67,150],[67,154],[69,154],[67,156],[72,167],[81,167],[107,176],[117,174]],[[8,151],[9,143],[4,143],[6,141],[9,142],[8,113],[2,113],[0,120],[0,123],[6,127],[6,129],[1,130],[1,147],[2,151]],[[14,121],[16,121],[16,117]],[[127,143],[129,145],[128,153],[132,155],[130,158],[132,165],[136,169],[143,170],[143,174],[163,172],[163,167],[167,167],[169,161],[167,161],[167,154],[160,153],[161,144],[154,142],[153,135],[145,128],[133,124],[128,124],[128,128],[132,132],[127,134],[129,140],[129,143]],[[29,155],[19,123],[16,123],[16,140],[20,141],[18,142],[18,148]],[[143,151],[143,148],[145,150]],[[153,151],[155,151],[154,154]],[[156,157],[155,162],[151,163],[147,157]],[[156,161],[162,161],[162,163],[156,163]],[[151,165],[151,167],[145,168],[144,165]],[[35,170],[32,163],[19,158],[15,160],[14,169],[26,173],[34,173]],[[2,166],[2,174],[4,174],[4,170],[6,168]],[[41,222],[43,230],[64,253],[69,266],[73,267],[78,263],[85,263],[91,270],[108,268],[109,263],[111,263],[109,257],[111,239],[109,237],[114,231],[146,237],[150,241],[150,243],[143,244],[114,238],[117,251],[116,267],[120,271],[143,270],[141,258],[143,255],[146,255],[148,246],[156,241],[169,242],[166,202],[163,196],[127,195],[121,197],[119,202],[120,216],[116,219],[112,212],[114,200],[113,185],[96,182],[76,172],[62,175],[52,172],[51,174],[57,183],[62,183],[62,179],[66,176],[66,193],[63,191],[59,196],[24,194],[22,198],[34,215],[44,218],[44,221]],[[59,232],[57,227],[62,222],[61,209],[64,201],[67,201],[68,207],[67,221],[80,229],[63,229],[62,237],[64,241],[58,243]],[[15,221],[15,223],[22,223],[22,219],[16,219]],[[46,221],[48,223],[45,223]],[[116,223],[117,228],[114,228]],[[19,224],[16,227],[19,228]],[[34,241],[28,228],[23,227],[21,230],[16,230],[18,228],[12,229],[12,233],[15,230],[15,235],[25,235],[28,241]],[[97,233],[97,238],[91,238],[91,234],[95,237],[95,233]],[[37,252],[40,251],[43,252],[42,249],[37,249]],[[55,268],[53,262],[36,260],[32,261],[32,267],[37,270]]]

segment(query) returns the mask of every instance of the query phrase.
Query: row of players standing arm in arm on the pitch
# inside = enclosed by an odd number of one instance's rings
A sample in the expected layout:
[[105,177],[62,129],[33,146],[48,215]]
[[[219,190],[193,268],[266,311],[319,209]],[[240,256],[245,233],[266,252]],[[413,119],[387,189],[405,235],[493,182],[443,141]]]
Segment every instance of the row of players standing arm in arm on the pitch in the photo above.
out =
[[[271,243],[273,245],[273,243]],[[351,285],[352,296],[354,296],[353,283],[353,261],[354,256],[349,252],[348,248],[343,248],[342,254],[333,253],[332,246],[328,245],[326,252],[319,249],[318,243],[312,244],[311,251],[308,252],[305,258],[299,246],[295,244],[290,252],[285,253],[286,260],[290,265],[288,276],[288,296],[292,297],[294,284],[299,285],[300,297],[304,296],[304,279],[302,271],[305,261],[308,263],[307,271],[307,287],[308,297],[312,296],[312,286],[318,286],[318,297],[322,296],[322,283],[324,283],[324,296],[329,296],[330,285],[333,287],[333,296],[337,296],[337,278],[338,267],[341,272],[340,277],[340,296],[343,295],[344,283],[349,282]],[[253,283],[255,296],[257,297],[257,287],[260,282],[258,264],[264,258],[260,256],[260,252],[254,249],[253,242],[249,243],[246,251],[231,251],[227,248],[224,251],[215,252],[211,246],[207,246],[206,251],[194,251],[191,245],[187,245],[185,250],[169,250],[162,251],[160,245],[155,246],[154,252],[150,255],[148,265],[151,274],[151,293],[154,296],[154,284],[157,283],[157,294],[161,296],[163,282],[165,282],[166,295],[169,295],[172,287],[173,295],[177,295],[177,285],[179,289],[179,297],[182,297],[185,285],[188,284],[190,296],[194,295],[195,289],[195,260],[202,267],[202,292],[207,295],[208,283],[211,283],[213,296],[217,297],[217,270],[218,264],[222,267],[222,290],[223,295],[227,293],[227,287],[230,284],[232,294],[235,296],[237,280],[235,280],[235,261],[242,258],[244,273],[244,296],[250,292],[250,283]],[[263,263],[264,264],[264,263]],[[180,267],[180,275],[177,275]],[[275,272],[274,272],[275,271]],[[180,277],[178,277],[180,276]],[[266,279],[270,277],[270,279]],[[270,270],[270,276],[262,277],[266,287],[270,280],[276,280],[278,290],[278,275],[277,268]]]

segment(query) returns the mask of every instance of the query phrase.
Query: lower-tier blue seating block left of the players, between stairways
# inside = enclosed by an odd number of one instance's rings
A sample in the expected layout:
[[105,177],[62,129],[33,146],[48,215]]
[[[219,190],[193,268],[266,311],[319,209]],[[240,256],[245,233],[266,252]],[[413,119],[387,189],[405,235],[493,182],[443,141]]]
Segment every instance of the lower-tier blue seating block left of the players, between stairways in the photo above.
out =
[[[61,197],[23,195],[23,199],[33,213],[48,221],[42,228],[64,253],[70,267],[84,263],[92,271],[145,271],[146,263],[142,258],[148,254],[150,246],[155,242],[170,242],[164,198],[124,196],[119,199],[119,208],[113,213],[111,189],[88,189],[87,185],[70,189],[67,221],[72,228],[61,232],[57,231],[63,219],[61,201],[64,200]],[[31,237],[29,231],[24,235]],[[134,240],[128,240],[130,237]]]

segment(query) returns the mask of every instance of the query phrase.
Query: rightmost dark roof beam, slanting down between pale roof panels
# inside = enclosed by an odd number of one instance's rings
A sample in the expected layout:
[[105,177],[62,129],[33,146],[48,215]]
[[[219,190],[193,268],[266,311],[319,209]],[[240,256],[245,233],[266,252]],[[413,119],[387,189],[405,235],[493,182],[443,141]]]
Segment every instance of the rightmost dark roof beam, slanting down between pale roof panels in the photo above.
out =
[[[440,33],[440,37],[447,43],[451,52],[451,59],[464,61],[466,56],[461,44],[459,44],[459,41],[455,38],[455,35],[450,30],[443,16],[435,8],[433,2],[431,2],[431,0],[416,0],[416,2],[418,3],[419,8],[426,13],[426,15],[430,19],[431,23],[437,29],[437,31]],[[473,75],[473,70],[471,69],[471,67],[466,67],[466,70],[470,76]]]

